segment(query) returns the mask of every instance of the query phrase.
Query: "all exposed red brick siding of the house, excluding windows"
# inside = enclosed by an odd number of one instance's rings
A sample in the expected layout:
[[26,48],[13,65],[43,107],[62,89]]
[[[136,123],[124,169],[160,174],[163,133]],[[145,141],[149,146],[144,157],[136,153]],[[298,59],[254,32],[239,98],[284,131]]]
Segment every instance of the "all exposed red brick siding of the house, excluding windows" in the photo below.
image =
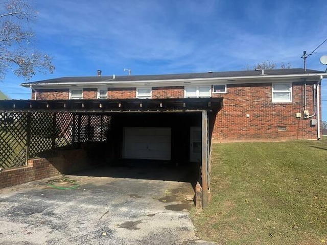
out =
[[[307,83],[307,110],[313,114],[313,82]],[[136,88],[108,88],[108,99],[133,99]],[[271,83],[227,84],[223,108],[217,113],[212,132],[213,141],[316,139],[317,126],[303,119],[304,84],[292,83],[291,103],[272,103]],[[38,100],[68,99],[68,89],[38,90]],[[83,90],[84,99],[96,99],[97,88]],[[184,97],[183,86],[152,87],[153,99]],[[34,99],[34,93],[32,94]],[[321,111],[321,103],[320,103]],[[300,112],[301,117],[296,118]],[[249,114],[249,117],[247,117]],[[279,128],[278,130],[278,127]],[[285,131],[281,131],[284,129]]]

